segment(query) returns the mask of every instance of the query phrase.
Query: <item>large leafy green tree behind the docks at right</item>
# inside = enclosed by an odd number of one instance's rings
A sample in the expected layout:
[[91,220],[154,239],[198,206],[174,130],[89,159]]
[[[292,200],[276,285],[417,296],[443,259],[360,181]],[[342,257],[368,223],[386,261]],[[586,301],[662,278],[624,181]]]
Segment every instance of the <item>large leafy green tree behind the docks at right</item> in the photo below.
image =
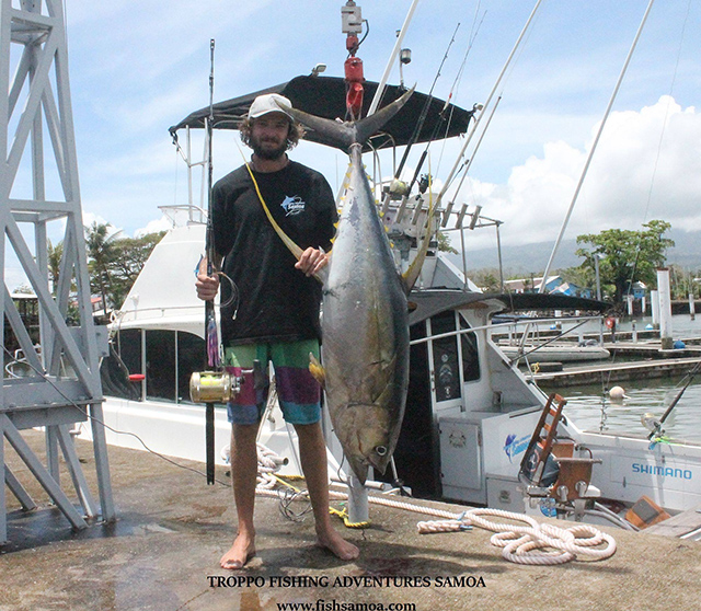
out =
[[667,249],[675,245],[664,238],[671,226],[663,220],[652,220],[640,231],[607,229],[599,233],[577,235],[578,244],[589,244],[589,249],[578,249],[576,255],[584,257],[581,267],[595,269],[594,257],[599,256],[599,277],[602,289],[609,286],[613,301],[620,303],[633,283],[642,281],[654,286],[657,268],[664,267]]

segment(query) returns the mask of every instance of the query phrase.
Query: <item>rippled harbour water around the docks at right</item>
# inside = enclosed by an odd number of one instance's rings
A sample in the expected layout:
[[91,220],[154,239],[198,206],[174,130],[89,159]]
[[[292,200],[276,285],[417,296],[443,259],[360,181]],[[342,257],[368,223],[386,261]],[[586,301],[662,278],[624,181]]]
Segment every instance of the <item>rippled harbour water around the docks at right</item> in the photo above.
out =
[[[644,330],[648,322],[650,319],[637,319],[636,328]],[[598,328],[595,323],[587,324],[590,326],[585,332]],[[701,314],[697,315],[696,321],[691,321],[688,314],[673,316],[671,325],[674,338],[701,337]],[[630,331],[631,322],[621,322],[618,328]],[[677,378],[614,382],[607,388],[589,384],[549,389],[543,384],[542,389],[545,392],[556,390],[567,399],[564,413],[581,429],[646,436],[650,431],[642,425],[641,416],[652,413],[660,418],[687,381],[682,374]],[[608,388],[614,384],[625,390],[625,399],[613,401],[609,397]],[[701,372],[683,392],[663,428],[665,435],[677,441],[701,443]]]

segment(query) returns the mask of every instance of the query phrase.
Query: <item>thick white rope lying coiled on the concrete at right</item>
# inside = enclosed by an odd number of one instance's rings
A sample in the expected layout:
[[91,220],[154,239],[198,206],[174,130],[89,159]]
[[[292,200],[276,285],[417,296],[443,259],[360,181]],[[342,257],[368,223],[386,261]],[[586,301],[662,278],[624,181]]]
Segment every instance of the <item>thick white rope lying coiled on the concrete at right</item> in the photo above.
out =
[[[494,516],[528,526],[494,522],[482,516]],[[577,523],[563,529],[550,523],[540,524],[530,516],[501,509],[475,508],[461,516],[453,516],[450,520],[418,522],[416,526],[422,534],[455,532],[468,526],[491,530],[495,533],[490,540],[492,545],[502,547],[502,556],[517,564],[564,564],[578,555],[600,561],[616,553],[616,540],[589,524]],[[606,546],[598,547],[601,544]]]

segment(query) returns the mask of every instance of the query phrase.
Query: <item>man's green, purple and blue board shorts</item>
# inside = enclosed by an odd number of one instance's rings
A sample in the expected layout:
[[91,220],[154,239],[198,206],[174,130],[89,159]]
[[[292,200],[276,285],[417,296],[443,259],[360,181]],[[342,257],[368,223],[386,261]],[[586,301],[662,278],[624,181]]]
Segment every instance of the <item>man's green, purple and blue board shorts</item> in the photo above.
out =
[[[260,422],[267,401],[266,387],[256,390],[253,384],[253,361],[260,360],[275,368],[277,397],[285,422],[314,424],[321,419],[321,387],[309,371],[309,354],[319,358],[319,342],[281,342],[275,344],[245,344],[225,349],[225,367],[234,376],[243,376],[241,391],[228,404],[229,422],[255,425]],[[248,370],[243,372],[243,370]]]

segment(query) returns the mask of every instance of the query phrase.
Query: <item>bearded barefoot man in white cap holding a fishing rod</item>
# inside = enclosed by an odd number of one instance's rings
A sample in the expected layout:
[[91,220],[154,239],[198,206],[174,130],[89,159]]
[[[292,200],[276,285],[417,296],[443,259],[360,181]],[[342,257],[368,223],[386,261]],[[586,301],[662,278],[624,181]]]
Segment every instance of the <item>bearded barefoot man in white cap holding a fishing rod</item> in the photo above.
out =
[[[326,448],[321,430],[321,390],[308,370],[309,354],[319,355],[321,287],[312,277],[326,265],[337,214],[331,187],[319,173],[290,161],[301,126],[286,112],[291,103],[278,94],[256,97],[241,126],[241,139],[253,149],[250,168],[268,209],[302,249],[299,262],[273,230],[254,183],[244,166],[214,186],[212,226],[217,261],[223,258],[221,331],[225,364],[240,376],[255,359],[275,367],[285,419],[295,426],[302,471],[314,514],[318,542],[342,560],[358,549],[332,527],[329,515]],[[195,287],[207,301],[216,297],[218,276],[200,266]],[[231,477],[239,529],[222,568],[238,569],[255,553],[253,508],[257,472],[256,436],[265,392],[246,374],[229,404],[232,423]]]

